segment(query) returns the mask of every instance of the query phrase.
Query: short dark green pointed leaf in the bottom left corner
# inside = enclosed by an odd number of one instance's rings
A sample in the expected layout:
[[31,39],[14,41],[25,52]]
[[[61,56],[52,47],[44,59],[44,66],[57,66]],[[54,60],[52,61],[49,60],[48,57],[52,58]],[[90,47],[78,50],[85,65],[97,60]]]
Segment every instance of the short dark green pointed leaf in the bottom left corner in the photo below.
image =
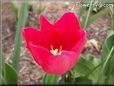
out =
[[3,77],[7,84],[17,84],[18,83],[18,75],[16,70],[9,64],[5,63],[3,69]]

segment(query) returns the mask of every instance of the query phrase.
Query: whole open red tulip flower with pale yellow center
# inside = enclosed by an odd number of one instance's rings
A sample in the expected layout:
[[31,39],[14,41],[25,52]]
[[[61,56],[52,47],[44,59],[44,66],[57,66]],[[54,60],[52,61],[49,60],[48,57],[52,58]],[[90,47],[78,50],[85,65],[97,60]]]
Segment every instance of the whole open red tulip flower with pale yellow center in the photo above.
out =
[[84,47],[86,32],[80,29],[77,16],[65,13],[54,24],[40,15],[41,30],[23,28],[26,47],[42,69],[61,75],[70,70],[79,59]]

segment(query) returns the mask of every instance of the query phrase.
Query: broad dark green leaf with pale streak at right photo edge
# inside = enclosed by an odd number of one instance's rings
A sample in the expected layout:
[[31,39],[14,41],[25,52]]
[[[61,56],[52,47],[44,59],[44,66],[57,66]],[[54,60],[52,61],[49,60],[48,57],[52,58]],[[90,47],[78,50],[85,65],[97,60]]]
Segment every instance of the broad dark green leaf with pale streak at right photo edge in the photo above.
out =
[[[104,43],[103,49],[102,49],[102,58],[101,62],[103,63],[101,65],[99,77],[97,83],[105,83],[106,79],[109,78],[111,74],[113,74],[114,69],[114,34],[110,34]],[[114,75],[114,74],[113,74]]]

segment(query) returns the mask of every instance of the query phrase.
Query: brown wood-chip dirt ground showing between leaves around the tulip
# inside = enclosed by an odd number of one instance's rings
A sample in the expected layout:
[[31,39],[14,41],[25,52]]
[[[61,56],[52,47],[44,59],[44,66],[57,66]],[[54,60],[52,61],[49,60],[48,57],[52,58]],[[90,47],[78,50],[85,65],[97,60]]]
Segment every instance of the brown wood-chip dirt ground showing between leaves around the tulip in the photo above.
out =
[[[37,8],[37,4],[38,3],[34,3],[34,8]],[[55,22],[66,11],[73,11],[78,14],[80,8],[80,6],[74,7],[73,2],[67,1],[50,1],[42,4],[46,7],[43,13],[51,22]],[[29,26],[33,26],[33,23],[34,21],[29,23]],[[100,57],[104,40],[110,30],[110,24],[111,17],[110,15],[106,15],[86,28],[87,41],[82,52],[84,56],[93,54],[96,57]],[[11,58],[14,49],[15,30],[16,15],[11,9],[11,4],[9,2],[4,3],[2,4],[2,47],[7,63],[12,63]],[[19,64],[20,84],[38,84],[42,82],[45,72],[33,61],[30,52],[25,47],[24,41],[22,42]]]

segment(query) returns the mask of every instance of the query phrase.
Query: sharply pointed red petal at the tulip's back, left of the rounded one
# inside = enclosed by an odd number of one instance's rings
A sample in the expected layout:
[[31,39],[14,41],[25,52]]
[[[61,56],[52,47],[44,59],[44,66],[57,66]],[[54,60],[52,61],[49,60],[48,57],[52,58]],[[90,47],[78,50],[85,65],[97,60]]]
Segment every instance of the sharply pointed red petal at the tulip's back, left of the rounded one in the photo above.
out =
[[55,26],[52,25],[48,20],[40,15],[41,23],[41,33],[42,33],[42,46],[50,49],[50,46],[53,45],[54,48],[59,48],[62,45],[62,36],[59,34]]

